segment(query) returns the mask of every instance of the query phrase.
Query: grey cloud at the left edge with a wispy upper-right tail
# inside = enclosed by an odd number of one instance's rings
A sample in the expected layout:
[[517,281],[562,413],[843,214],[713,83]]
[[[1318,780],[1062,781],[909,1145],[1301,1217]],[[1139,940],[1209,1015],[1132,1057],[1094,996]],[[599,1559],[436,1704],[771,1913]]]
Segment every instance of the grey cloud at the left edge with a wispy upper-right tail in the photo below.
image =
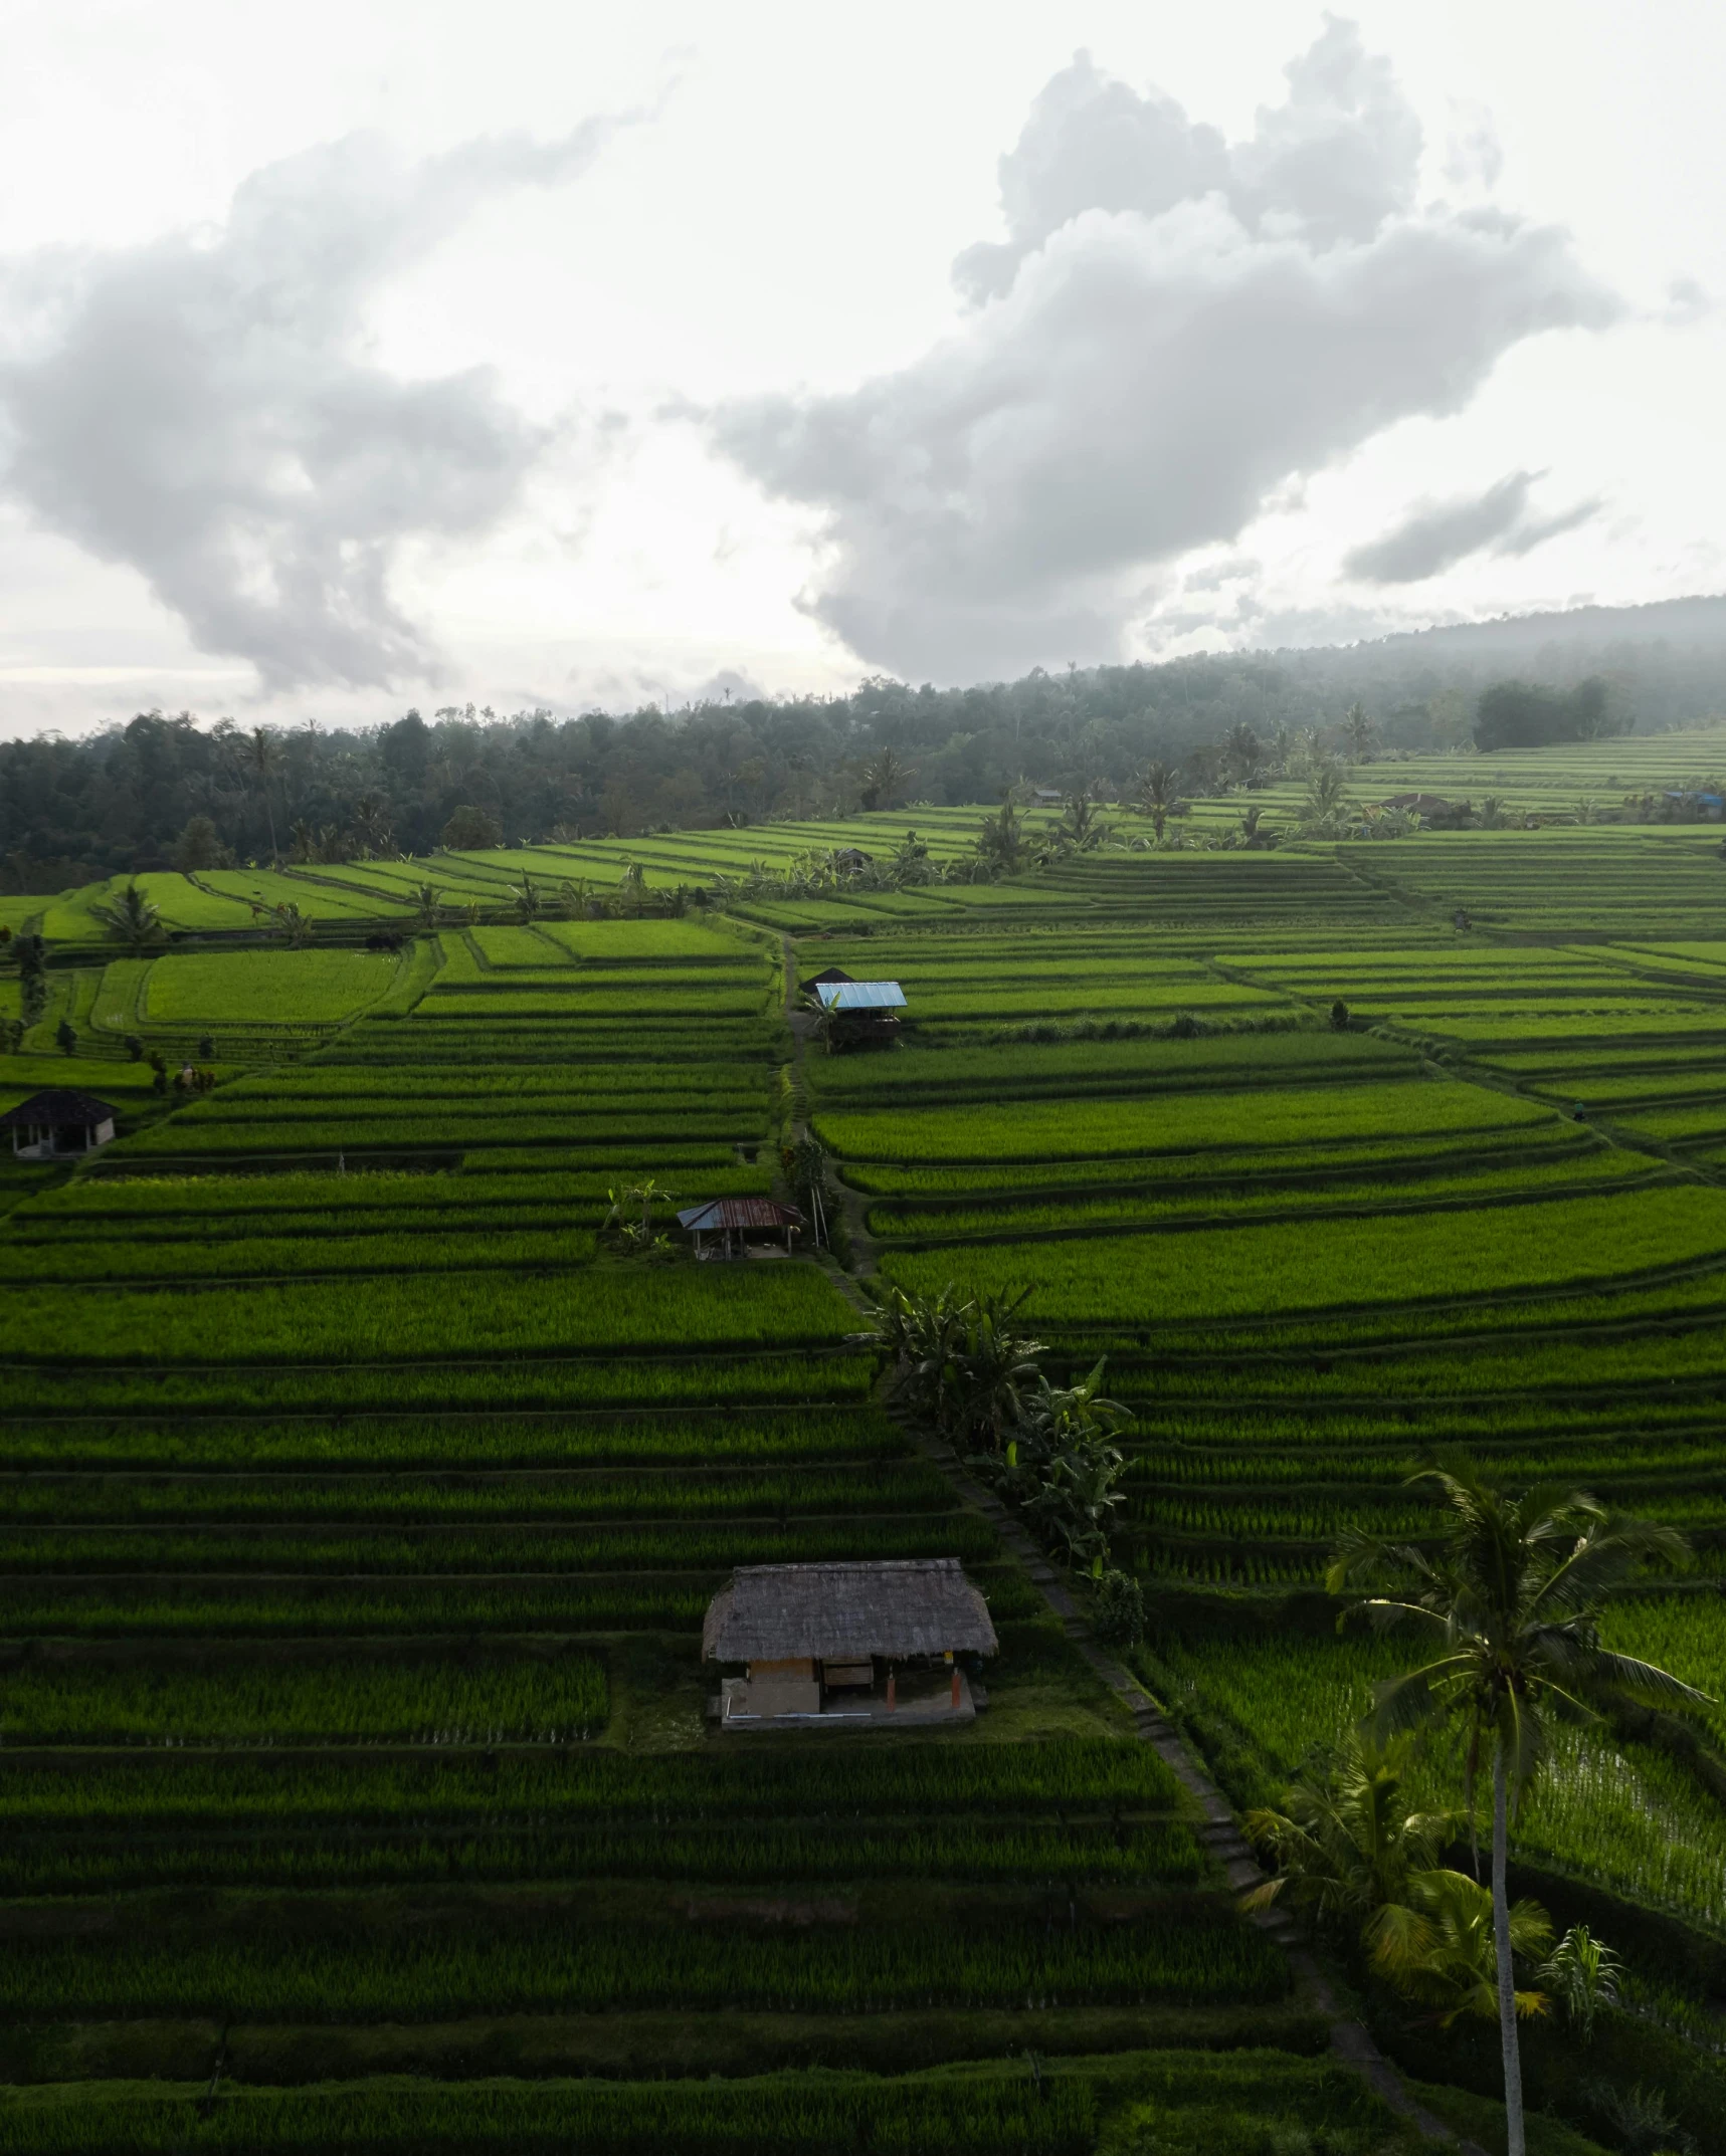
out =
[[574,177],[617,125],[412,166],[350,136],[255,172],[214,231],[0,265],[0,485],[270,690],[432,673],[393,556],[492,524],[546,438],[488,369],[384,373],[367,304],[483,196]]

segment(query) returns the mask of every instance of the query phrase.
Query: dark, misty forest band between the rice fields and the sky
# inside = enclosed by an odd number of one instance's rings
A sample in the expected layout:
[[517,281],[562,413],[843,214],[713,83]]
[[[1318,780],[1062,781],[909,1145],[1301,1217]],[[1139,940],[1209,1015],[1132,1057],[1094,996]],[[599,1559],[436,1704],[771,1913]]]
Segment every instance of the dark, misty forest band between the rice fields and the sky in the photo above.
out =
[[[1197,789],[1303,748],[1480,755],[1726,709],[1726,599],[1584,608],[1370,645],[1036,671],[982,688],[615,716],[444,707],[289,729],[140,714],[0,744],[0,888],[138,869],[332,860],[542,837],[995,802],[1018,780]],[[1232,748],[1228,744],[1234,744]],[[1243,757],[1245,744],[1245,757]]]

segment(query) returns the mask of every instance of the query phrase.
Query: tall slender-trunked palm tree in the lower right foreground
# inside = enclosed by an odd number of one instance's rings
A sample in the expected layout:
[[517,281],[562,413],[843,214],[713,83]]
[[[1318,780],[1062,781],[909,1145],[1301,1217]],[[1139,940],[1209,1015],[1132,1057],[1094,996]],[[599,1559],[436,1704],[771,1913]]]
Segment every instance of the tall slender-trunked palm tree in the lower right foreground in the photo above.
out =
[[[1374,1733],[1461,1725],[1467,1787],[1482,1753],[1493,1770],[1493,1947],[1504,2050],[1508,2156],[1525,2156],[1517,1977],[1506,1863],[1510,1807],[1551,1749],[1551,1723],[1597,1723],[1601,1710],[1640,1701],[1707,1705],[1704,1692],[1653,1662],[1601,1645],[1605,1602],[1650,1559],[1685,1563],[1689,1546],[1670,1526],[1629,1520],[1579,1490],[1491,1490],[1467,1464],[1415,1475],[1443,1503],[1437,1546],[1351,1542],[1325,1576],[1331,1593],[1353,1580],[1389,1589],[1357,1608],[1376,1626],[1413,1623],[1439,1649],[1433,1660],[1379,1686]],[[1346,1613],[1344,1613],[1346,1615]]]

